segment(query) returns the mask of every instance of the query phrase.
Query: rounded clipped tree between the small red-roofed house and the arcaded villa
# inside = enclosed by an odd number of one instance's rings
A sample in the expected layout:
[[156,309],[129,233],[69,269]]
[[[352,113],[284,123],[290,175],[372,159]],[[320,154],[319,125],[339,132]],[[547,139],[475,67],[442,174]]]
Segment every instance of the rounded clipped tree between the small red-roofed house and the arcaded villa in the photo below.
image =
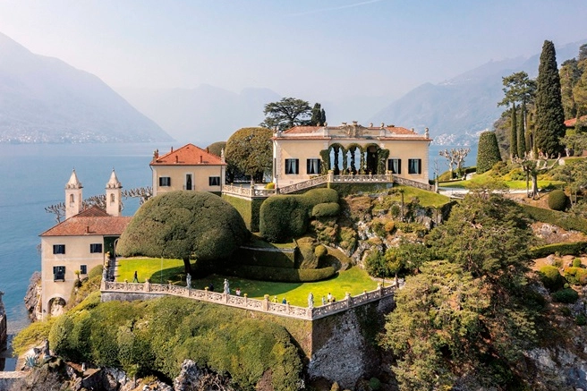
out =
[[226,163],[262,182],[273,165],[272,136],[273,132],[267,128],[239,129],[226,141]]

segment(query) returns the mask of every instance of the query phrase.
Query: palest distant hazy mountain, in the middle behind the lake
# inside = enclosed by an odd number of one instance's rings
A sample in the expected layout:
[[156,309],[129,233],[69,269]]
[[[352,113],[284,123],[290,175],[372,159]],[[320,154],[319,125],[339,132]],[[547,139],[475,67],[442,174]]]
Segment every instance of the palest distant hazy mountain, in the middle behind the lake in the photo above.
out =
[[202,84],[196,89],[118,89],[120,94],[175,139],[206,147],[263,121],[263,107],[281,99],[271,89],[237,94]]

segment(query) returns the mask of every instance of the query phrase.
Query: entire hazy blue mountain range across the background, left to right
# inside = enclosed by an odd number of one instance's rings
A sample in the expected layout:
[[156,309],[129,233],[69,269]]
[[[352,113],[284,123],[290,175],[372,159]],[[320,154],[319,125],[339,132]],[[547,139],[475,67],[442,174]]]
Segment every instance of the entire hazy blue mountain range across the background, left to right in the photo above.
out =
[[[560,65],[583,40],[557,47]],[[437,84],[424,83],[400,98],[335,97],[320,102],[330,124],[396,124],[440,145],[469,145],[503,112],[502,77],[536,77],[540,54],[491,61]],[[34,55],[0,34],[0,142],[195,142],[227,140],[263,121],[263,107],[282,96],[271,89],[236,93],[202,84],[195,89],[111,89],[89,72]],[[304,97],[295,97],[304,98]],[[311,102],[311,105],[313,102]],[[136,107],[136,108],[135,108]],[[165,130],[165,131],[164,131]],[[171,135],[171,136],[170,136]]]

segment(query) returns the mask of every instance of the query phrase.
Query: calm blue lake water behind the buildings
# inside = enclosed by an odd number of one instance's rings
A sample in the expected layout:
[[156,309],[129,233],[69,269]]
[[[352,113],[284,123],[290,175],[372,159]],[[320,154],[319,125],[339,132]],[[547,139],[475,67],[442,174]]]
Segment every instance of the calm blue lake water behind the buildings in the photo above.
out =
[[[75,168],[85,198],[103,194],[115,168],[123,188],[150,186],[149,162],[154,149],[169,150],[164,144],[0,144],[0,290],[9,333],[28,324],[23,297],[29,279],[40,271],[38,234],[55,225],[55,216],[45,207],[64,201],[64,186]],[[179,145],[175,145],[179,147]],[[438,156],[447,146],[430,146],[430,176],[434,161],[440,173],[447,159]],[[475,164],[476,148],[465,159]],[[123,216],[132,216],[138,200],[124,200]]]

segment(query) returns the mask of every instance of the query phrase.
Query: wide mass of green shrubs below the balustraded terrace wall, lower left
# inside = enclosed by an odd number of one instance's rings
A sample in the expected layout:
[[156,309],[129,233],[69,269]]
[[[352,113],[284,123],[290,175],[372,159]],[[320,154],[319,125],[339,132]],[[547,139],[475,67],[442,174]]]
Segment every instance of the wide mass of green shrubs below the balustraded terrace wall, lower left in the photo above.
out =
[[[107,327],[105,327],[107,325]],[[99,296],[55,320],[51,349],[66,360],[127,372],[178,375],[186,359],[253,390],[271,371],[276,390],[299,387],[302,361],[284,327],[241,310],[167,297],[99,302]]]

